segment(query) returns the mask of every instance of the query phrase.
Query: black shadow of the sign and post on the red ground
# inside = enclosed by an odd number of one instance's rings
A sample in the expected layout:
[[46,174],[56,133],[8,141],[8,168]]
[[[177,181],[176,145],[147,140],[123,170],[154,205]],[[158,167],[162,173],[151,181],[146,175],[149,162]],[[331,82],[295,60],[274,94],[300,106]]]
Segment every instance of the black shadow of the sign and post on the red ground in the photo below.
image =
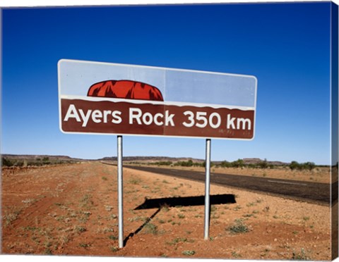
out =
[[[220,205],[220,204],[235,204],[237,201],[235,201],[234,194],[217,194],[210,196],[210,204],[211,205]],[[143,210],[143,209],[152,209],[157,208],[155,213],[152,214],[149,218],[145,220],[145,223],[138,227],[136,231],[133,233],[130,233],[125,239],[124,239],[124,245],[126,242],[133,237],[134,235],[138,234],[141,230],[143,230],[143,227],[150,223],[150,220],[152,220],[157,213],[159,213],[162,209],[162,207],[174,207],[174,206],[203,206],[205,204],[205,196],[184,196],[184,197],[166,197],[162,199],[145,199],[145,202],[141,204],[140,206],[137,206],[134,208],[134,210]]]

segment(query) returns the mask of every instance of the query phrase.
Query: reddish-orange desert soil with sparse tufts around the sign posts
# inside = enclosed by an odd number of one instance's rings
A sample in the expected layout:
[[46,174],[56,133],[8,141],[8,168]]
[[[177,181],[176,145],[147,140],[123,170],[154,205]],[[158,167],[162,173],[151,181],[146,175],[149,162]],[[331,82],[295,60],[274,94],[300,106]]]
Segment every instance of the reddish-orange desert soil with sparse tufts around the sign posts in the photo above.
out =
[[2,170],[3,254],[331,260],[331,209],[211,185],[236,203],[135,210],[145,199],[203,196],[205,185],[124,169],[124,237],[118,249],[117,168],[79,163]]

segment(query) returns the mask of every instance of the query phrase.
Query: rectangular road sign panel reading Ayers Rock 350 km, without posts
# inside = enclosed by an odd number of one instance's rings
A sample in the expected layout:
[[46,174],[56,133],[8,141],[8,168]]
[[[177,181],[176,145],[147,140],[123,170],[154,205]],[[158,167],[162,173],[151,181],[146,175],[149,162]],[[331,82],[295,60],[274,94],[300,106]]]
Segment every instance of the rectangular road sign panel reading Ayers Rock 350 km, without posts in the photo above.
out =
[[256,77],[62,59],[62,132],[253,139]]

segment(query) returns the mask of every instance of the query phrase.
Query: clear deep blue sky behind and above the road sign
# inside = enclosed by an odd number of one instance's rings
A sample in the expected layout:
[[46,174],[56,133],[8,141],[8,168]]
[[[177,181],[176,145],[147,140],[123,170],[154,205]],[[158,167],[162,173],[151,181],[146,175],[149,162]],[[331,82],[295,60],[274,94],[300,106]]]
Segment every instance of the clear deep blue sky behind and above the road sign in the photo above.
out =
[[[59,130],[61,58],[255,75],[253,141],[212,140],[212,160],[330,163],[331,4],[2,11],[1,153],[116,156],[114,135]],[[124,137],[125,156],[205,157],[205,140]]]

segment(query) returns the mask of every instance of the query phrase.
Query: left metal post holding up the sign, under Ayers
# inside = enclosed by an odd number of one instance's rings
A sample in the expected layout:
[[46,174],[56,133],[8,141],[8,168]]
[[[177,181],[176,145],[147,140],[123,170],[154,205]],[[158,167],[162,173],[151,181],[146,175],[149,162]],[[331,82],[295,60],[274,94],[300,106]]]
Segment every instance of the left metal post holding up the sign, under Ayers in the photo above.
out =
[[124,247],[124,211],[123,211],[123,183],[122,183],[122,136],[117,136],[118,147],[118,226],[119,226],[119,249]]

